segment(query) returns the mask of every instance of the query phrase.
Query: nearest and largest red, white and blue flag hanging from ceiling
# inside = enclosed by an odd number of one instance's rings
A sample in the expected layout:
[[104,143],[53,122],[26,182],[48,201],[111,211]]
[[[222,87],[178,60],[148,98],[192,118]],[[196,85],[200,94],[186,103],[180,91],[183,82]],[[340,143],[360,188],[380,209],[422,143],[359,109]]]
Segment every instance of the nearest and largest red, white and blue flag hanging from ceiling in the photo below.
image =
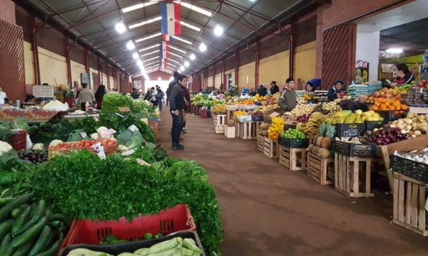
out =
[[164,35],[181,35],[181,4],[161,3],[161,32]]

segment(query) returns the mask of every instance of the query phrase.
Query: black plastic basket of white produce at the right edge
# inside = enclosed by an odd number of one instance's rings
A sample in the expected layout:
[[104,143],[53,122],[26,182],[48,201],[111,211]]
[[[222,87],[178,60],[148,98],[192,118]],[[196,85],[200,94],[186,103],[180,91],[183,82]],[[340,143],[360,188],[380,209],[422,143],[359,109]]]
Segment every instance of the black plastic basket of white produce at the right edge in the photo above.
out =
[[428,164],[393,155],[390,168],[399,174],[428,183]]

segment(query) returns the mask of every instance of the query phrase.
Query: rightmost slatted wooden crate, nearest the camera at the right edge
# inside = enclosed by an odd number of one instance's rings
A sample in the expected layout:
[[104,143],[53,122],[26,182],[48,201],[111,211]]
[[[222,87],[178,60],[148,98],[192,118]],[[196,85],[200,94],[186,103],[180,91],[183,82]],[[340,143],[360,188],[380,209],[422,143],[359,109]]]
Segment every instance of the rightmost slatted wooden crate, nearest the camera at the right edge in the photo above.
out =
[[428,236],[427,187],[421,181],[394,173],[394,214],[392,222],[412,230],[424,237]]

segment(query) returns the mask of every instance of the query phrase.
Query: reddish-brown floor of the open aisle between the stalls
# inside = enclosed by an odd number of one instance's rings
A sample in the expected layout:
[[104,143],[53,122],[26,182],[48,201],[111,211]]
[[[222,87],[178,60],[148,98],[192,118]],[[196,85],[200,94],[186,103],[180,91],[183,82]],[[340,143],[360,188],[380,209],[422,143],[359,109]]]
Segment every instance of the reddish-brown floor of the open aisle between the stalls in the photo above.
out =
[[390,223],[392,196],[346,198],[306,173],[287,171],[255,141],[215,134],[212,119],[188,117],[184,151],[170,149],[171,117],[161,114],[168,154],[195,159],[222,208],[225,256],[428,255],[428,238]]

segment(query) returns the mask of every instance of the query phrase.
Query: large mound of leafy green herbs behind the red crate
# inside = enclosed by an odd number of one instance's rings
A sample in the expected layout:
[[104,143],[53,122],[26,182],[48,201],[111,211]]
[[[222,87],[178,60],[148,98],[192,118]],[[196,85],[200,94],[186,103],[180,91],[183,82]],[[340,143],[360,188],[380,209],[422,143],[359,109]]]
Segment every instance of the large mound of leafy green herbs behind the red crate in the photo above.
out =
[[131,220],[140,213],[156,214],[186,203],[206,252],[219,253],[223,240],[220,208],[203,168],[168,158],[153,165],[141,166],[132,157],[116,154],[101,160],[79,151],[56,156],[36,172],[33,183],[52,210],[72,218],[116,220],[125,216]]

